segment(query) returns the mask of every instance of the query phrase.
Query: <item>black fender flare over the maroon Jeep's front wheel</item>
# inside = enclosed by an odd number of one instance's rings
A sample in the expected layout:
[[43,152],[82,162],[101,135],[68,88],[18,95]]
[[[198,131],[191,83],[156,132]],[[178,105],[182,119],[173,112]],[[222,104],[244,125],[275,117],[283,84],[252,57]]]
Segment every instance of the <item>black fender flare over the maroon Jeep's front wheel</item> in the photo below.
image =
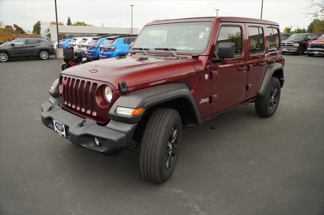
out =
[[[114,121],[124,123],[137,123],[145,114],[145,111],[148,110],[151,106],[176,98],[185,98],[191,104],[190,108],[195,114],[195,120],[198,124],[200,124],[200,113],[198,111],[197,104],[193,98],[193,95],[191,91],[181,83],[158,85],[121,95],[112,105],[108,113],[108,117],[110,120]],[[118,115],[115,113],[118,106],[132,109],[144,107],[145,111],[144,113],[136,117]]]

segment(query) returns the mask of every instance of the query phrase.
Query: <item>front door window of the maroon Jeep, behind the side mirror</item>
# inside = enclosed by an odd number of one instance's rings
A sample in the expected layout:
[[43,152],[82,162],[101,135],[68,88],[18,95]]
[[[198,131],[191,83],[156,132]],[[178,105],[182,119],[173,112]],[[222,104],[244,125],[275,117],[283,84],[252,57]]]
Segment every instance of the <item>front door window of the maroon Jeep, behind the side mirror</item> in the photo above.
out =
[[235,57],[242,55],[242,30],[238,26],[223,26],[219,30],[216,53],[218,55],[218,44],[221,42],[235,43]]

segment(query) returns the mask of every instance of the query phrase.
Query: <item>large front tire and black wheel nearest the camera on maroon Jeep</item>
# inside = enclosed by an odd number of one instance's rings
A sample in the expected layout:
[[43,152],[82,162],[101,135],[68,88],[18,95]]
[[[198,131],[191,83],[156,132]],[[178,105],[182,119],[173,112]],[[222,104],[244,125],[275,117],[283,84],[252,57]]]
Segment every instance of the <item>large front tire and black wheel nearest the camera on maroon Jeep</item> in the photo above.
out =
[[178,158],[181,131],[177,111],[163,108],[153,112],[141,144],[140,171],[144,179],[161,184],[171,177]]

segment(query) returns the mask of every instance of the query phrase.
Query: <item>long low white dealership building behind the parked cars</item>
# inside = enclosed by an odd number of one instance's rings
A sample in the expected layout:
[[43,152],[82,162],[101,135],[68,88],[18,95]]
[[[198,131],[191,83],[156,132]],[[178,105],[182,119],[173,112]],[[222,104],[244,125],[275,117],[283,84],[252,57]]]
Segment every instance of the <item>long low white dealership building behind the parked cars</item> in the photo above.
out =
[[[59,39],[83,37],[83,36],[112,36],[116,34],[131,34],[131,28],[96,27],[96,26],[74,26],[59,25]],[[140,29],[133,28],[133,34],[138,34]],[[50,22],[41,22],[41,36],[49,40],[57,40],[56,25]]]

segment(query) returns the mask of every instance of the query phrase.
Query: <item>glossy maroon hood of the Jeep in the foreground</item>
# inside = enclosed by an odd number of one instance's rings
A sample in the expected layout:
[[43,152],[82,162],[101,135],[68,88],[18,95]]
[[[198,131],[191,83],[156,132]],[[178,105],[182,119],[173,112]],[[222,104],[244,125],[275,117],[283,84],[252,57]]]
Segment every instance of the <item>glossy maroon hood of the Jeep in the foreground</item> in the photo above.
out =
[[[142,57],[139,58],[139,57]],[[120,81],[133,87],[154,81],[194,73],[193,65],[201,65],[198,59],[154,58],[147,56],[104,59],[70,67],[62,74],[105,81],[118,89]]]

